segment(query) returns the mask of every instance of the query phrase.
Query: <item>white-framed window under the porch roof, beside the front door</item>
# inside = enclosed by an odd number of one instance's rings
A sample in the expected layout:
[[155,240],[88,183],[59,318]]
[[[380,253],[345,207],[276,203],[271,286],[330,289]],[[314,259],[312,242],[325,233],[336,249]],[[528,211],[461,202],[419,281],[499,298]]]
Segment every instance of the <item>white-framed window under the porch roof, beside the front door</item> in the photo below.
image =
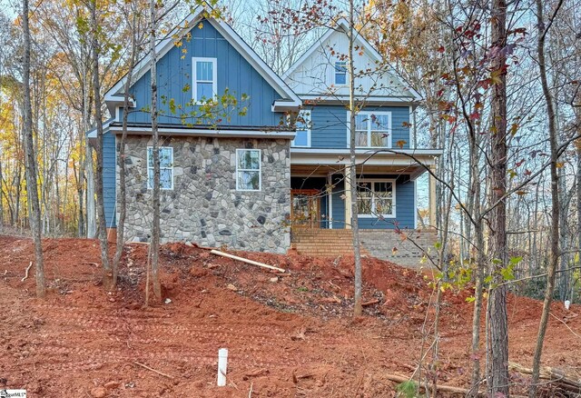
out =
[[359,180],[357,208],[360,216],[395,217],[395,181]]

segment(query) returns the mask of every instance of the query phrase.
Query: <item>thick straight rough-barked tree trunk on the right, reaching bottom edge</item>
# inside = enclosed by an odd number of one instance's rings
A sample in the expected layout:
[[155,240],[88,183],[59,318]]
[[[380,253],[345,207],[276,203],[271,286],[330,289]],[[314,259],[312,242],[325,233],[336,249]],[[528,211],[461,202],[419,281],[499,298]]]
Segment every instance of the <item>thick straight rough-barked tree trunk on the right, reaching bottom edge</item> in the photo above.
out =
[[492,396],[508,396],[508,327],[507,285],[502,283],[500,270],[507,266],[507,4],[505,0],[493,0],[491,18],[492,48],[497,50],[492,60],[492,71],[499,74],[499,81],[492,87],[491,118],[491,211],[490,244],[494,283],[489,298],[490,313],[490,369],[488,391]]

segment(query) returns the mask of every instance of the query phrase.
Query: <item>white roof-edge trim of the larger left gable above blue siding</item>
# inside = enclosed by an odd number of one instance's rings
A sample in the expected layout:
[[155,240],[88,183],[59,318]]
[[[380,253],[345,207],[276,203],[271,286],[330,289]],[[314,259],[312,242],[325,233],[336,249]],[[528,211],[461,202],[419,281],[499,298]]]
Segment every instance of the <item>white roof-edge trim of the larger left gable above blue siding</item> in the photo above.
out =
[[[175,26],[172,31],[166,35],[163,40],[155,46],[158,60],[166,55],[174,45],[174,37],[186,35],[202,19],[208,21],[227,41],[238,51],[242,57],[266,80],[266,82],[281,95],[281,100],[274,101],[272,111],[296,110],[300,104],[300,98],[296,95],[289,85],[287,85],[281,76],[274,73],[269,65],[257,55],[251,46],[246,44],[230,25],[222,20],[217,20],[211,16],[205,15],[206,9],[212,9],[211,5],[204,2],[204,5],[198,5],[190,15],[186,16],[180,25]],[[150,70],[151,54],[145,55],[134,67],[133,83],[137,82],[143,75]],[[123,104],[123,87],[127,81],[127,75],[124,75],[105,95],[104,100],[109,111],[114,116],[116,106]],[[135,104],[131,104],[135,106]]]

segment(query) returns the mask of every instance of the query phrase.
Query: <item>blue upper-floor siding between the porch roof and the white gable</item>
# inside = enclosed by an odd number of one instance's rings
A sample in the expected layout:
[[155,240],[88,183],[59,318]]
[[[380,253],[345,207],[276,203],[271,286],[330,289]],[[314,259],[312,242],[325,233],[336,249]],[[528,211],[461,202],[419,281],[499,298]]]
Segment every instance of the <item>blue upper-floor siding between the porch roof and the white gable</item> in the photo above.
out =
[[[409,106],[368,106],[369,112],[391,112],[391,144],[399,148],[398,141],[409,148]],[[310,114],[310,145],[313,148],[346,148],[347,109],[342,105],[314,105]]]

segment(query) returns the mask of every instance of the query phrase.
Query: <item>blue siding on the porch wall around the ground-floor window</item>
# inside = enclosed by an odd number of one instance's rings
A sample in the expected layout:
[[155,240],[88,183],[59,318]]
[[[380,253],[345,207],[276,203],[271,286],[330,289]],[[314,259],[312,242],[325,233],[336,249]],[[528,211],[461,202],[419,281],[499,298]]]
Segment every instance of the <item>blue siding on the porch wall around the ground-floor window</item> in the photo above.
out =
[[[359,217],[361,229],[400,229],[415,228],[415,181],[409,179],[409,175],[365,175],[363,178],[392,178],[396,179],[396,217],[379,220],[375,217]],[[339,176],[334,176],[333,181],[337,186],[333,188],[333,229],[345,228],[345,201],[341,195],[345,194],[344,184]]]

